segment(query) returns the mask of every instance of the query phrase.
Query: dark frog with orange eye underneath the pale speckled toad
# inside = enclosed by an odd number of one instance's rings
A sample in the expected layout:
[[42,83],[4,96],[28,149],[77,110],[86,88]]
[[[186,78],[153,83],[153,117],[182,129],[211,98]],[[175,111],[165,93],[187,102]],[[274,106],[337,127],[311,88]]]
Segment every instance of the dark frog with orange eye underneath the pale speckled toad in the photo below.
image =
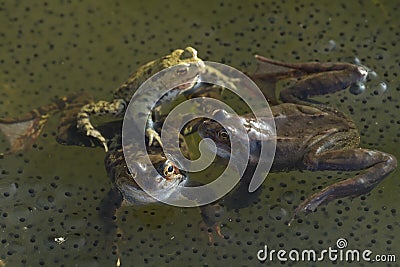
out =
[[[183,136],[179,138],[179,145],[182,154],[190,158]],[[110,142],[110,150],[105,157],[106,171],[114,184],[101,205],[101,215],[106,227],[114,225],[110,219],[121,206],[147,205],[173,197],[186,198],[181,193],[182,188],[201,185],[191,181],[179,163],[168,159],[160,146],[147,146],[147,151],[140,151],[138,142],[131,142],[129,146],[123,147],[121,136],[116,136]],[[219,235],[221,233],[215,217],[220,212],[218,205],[200,207],[200,214],[207,228],[214,228]]]

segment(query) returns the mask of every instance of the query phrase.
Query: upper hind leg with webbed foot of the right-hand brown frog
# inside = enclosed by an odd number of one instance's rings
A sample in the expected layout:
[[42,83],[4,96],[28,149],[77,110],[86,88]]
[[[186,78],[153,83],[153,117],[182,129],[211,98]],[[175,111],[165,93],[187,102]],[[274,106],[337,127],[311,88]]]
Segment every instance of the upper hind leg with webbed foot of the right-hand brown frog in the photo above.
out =
[[359,65],[349,63],[285,63],[262,56],[256,58],[264,63],[283,67],[284,70],[258,74],[258,78],[267,80],[283,80],[300,78],[296,83],[280,92],[280,99],[287,103],[308,104],[310,96],[325,95],[346,89],[352,84],[364,82],[368,70]]

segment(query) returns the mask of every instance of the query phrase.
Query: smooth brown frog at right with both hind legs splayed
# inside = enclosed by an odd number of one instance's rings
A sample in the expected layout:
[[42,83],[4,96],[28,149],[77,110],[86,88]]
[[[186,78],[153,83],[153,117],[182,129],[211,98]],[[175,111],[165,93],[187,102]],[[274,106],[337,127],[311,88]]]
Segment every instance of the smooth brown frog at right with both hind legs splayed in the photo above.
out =
[[[332,200],[367,194],[396,169],[397,159],[393,155],[360,147],[360,134],[348,115],[309,98],[365,82],[368,76],[366,67],[350,63],[286,63],[262,56],[256,58],[261,64],[279,69],[273,73],[250,75],[273,103],[273,118],[257,120],[252,113],[241,115],[240,122],[247,135],[237,136],[233,124],[229,123],[232,114],[216,110],[211,119],[203,120],[197,127],[201,138],[210,138],[215,143],[218,156],[234,160],[235,155],[230,153],[231,137],[235,135],[243,142],[248,138],[248,166],[254,167],[263,164],[264,159],[259,157],[260,145],[270,142],[271,131],[268,129],[273,126],[268,124],[273,119],[276,151],[270,172],[360,171],[354,177],[329,185],[306,198],[295,209],[289,225],[301,212],[314,212],[317,207]],[[282,89],[279,99],[275,98],[276,83],[288,78],[299,80],[291,87]],[[217,119],[224,122],[224,127]]]

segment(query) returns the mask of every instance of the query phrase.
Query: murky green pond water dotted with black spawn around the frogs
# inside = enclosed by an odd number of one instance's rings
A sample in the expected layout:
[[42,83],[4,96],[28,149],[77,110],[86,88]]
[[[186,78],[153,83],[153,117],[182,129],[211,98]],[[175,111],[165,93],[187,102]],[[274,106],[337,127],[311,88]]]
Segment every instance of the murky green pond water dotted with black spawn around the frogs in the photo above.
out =
[[[7,1],[0,13],[1,117],[80,90],[110,99],[140,64],[188,45],[203,59],[241,70],[255,68],[256,53],[285,61],[357,58],[378,75],[367,82],[367,91],[325,100],[355,120],[363,147],[400,158],[400,23],[394,1]],[[57,120],[49,121],[30,151],[0,158],[0,259],[6,266],[112,266],[111,241],[98,230],[97,208],[111,187],[104,152],[57,144]],[[7,147],[0,136],[0,151]],[[213,245],[195,209],[125,208],[119,216],[122,263],[267,265],[269,260],[257,259],[264,245],[322,251],[339,238],[348,249],[400,257],[398,173],[370,194],[334,201],[290,227],[285,222],[302,197],[354,173],[270,174],[255,204],[227,212],[228,238]],[[65,241],[56,242],[60,237]],[[272,264],[281,265],[276,257]]]

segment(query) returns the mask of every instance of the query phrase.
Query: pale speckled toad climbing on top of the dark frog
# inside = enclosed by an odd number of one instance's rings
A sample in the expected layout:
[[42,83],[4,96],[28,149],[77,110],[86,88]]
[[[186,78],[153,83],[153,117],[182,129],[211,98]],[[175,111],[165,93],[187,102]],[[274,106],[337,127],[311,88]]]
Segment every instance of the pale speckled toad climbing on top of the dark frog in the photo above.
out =
[[[184,79],[186,83],[182,86],[174,88],[164,97],[162,97],[152,110],[154,111],[162,103],[170,100],[173,97],[176,97],[186,90],[191,89],[196,84],[198,80],[198,75],[196,75],[196,73],[193,74],[192,72],[188,71],[189,65],[194,65],[198,67],[199,72],[201,72],[204,67],[203,61],[197,57],[197,51],[192,47],[186,47],[185,50],[177,49],[167,56],[164,56],[160,59],[151,61],[141,66],[135,73],[133,73],[129,77],[129,79],[124,84],[122,84],[116,90],[114,94],[114,99],[112,101],[98,101],[83,106],[77,115],[78,129],[83,131],[87,136],[99,140],[104,146],[104,149],[108,151],[107,141],[104,136],[92,125],[90,121],[90,115],[113,114],[115,116],[122,117],[131,97],[135,94],[139,86],[143,84],[144,81],[146,81],[148,78],[158,73],[159,71],[162,71],[168,67],[179,66],[178,70],[173,74],[169,74],[172,76],[167,77],[167,79],[173,81],[175,78],[179,77],[181,80]],[[155,90],[156,89],[157,88],[155,88]],[[145,95],[142,97],[143,99],[156,100],[155,95],[157,95],[157,92],[154,92],[152,90],[149,92],[145,92]],[[137,102],[139,102],[138,105],[141,104],[140,99]],[[149,144],[151,145],[154,139],[157,140],[159,144],[161,144],[159,134],[153,129],[152,116],[149,116],[145,119],[147,120],[146,136],[149,138]]]

